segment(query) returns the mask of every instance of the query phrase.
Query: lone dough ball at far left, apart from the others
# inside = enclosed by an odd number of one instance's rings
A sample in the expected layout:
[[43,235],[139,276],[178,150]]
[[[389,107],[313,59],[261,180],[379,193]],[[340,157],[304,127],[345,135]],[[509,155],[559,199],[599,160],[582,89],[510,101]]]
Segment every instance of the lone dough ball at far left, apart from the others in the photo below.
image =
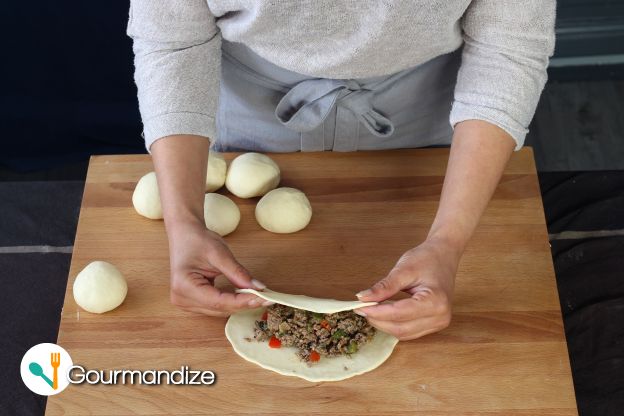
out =
[[128,284],[115,266],[94,261],[82,269],[74,281],[74,300],[87,312],[112,311],[126,298]]

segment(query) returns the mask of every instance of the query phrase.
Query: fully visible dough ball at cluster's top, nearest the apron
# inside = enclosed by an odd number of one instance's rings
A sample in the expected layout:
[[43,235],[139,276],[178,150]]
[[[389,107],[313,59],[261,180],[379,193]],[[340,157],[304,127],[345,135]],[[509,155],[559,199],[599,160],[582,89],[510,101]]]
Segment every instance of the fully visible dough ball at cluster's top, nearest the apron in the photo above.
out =
[[279,180],[279,166],[270,157],[245,153],[230,163],[225,186],[239,198],[253,198],[275,189]]

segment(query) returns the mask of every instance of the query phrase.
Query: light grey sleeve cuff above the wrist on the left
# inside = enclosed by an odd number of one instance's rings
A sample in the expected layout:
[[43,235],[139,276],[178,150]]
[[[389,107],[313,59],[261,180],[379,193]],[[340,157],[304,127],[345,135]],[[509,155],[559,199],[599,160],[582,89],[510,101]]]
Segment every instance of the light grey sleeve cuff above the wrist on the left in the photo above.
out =
[[201,113],[167,113],[151,117],[143,123],[143,138],[148,152],[156,140],[174,134],[193,134],[214,140],[215,119]]

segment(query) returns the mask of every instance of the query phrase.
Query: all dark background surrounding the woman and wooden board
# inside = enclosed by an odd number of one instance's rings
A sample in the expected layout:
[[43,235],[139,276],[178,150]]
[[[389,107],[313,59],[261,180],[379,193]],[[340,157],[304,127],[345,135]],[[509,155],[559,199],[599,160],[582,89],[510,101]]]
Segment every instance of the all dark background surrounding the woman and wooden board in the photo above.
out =
[[[21,383],[19,361],[56,340],[88,157],[145,150],[126,1],[14,1],[0,10],[0,415],[42,414],[45,400]],[[621,416],[624,0],[559,1],[549,78],[527,144],[579,411]]]

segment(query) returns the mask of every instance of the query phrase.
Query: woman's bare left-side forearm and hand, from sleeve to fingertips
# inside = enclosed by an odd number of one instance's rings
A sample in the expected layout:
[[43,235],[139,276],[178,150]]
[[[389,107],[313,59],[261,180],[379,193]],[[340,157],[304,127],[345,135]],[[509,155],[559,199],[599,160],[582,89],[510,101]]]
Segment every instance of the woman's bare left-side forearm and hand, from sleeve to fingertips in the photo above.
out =
[[209,141],[193,135],[163,137],[150,147],[169,238],[171,303],[212,316],[254,308],[263,300],[251,294],[221,292],[214,280],[223,274],[239,288],[263,289],[232,256],[223,239],[206,229],[204,198]]

